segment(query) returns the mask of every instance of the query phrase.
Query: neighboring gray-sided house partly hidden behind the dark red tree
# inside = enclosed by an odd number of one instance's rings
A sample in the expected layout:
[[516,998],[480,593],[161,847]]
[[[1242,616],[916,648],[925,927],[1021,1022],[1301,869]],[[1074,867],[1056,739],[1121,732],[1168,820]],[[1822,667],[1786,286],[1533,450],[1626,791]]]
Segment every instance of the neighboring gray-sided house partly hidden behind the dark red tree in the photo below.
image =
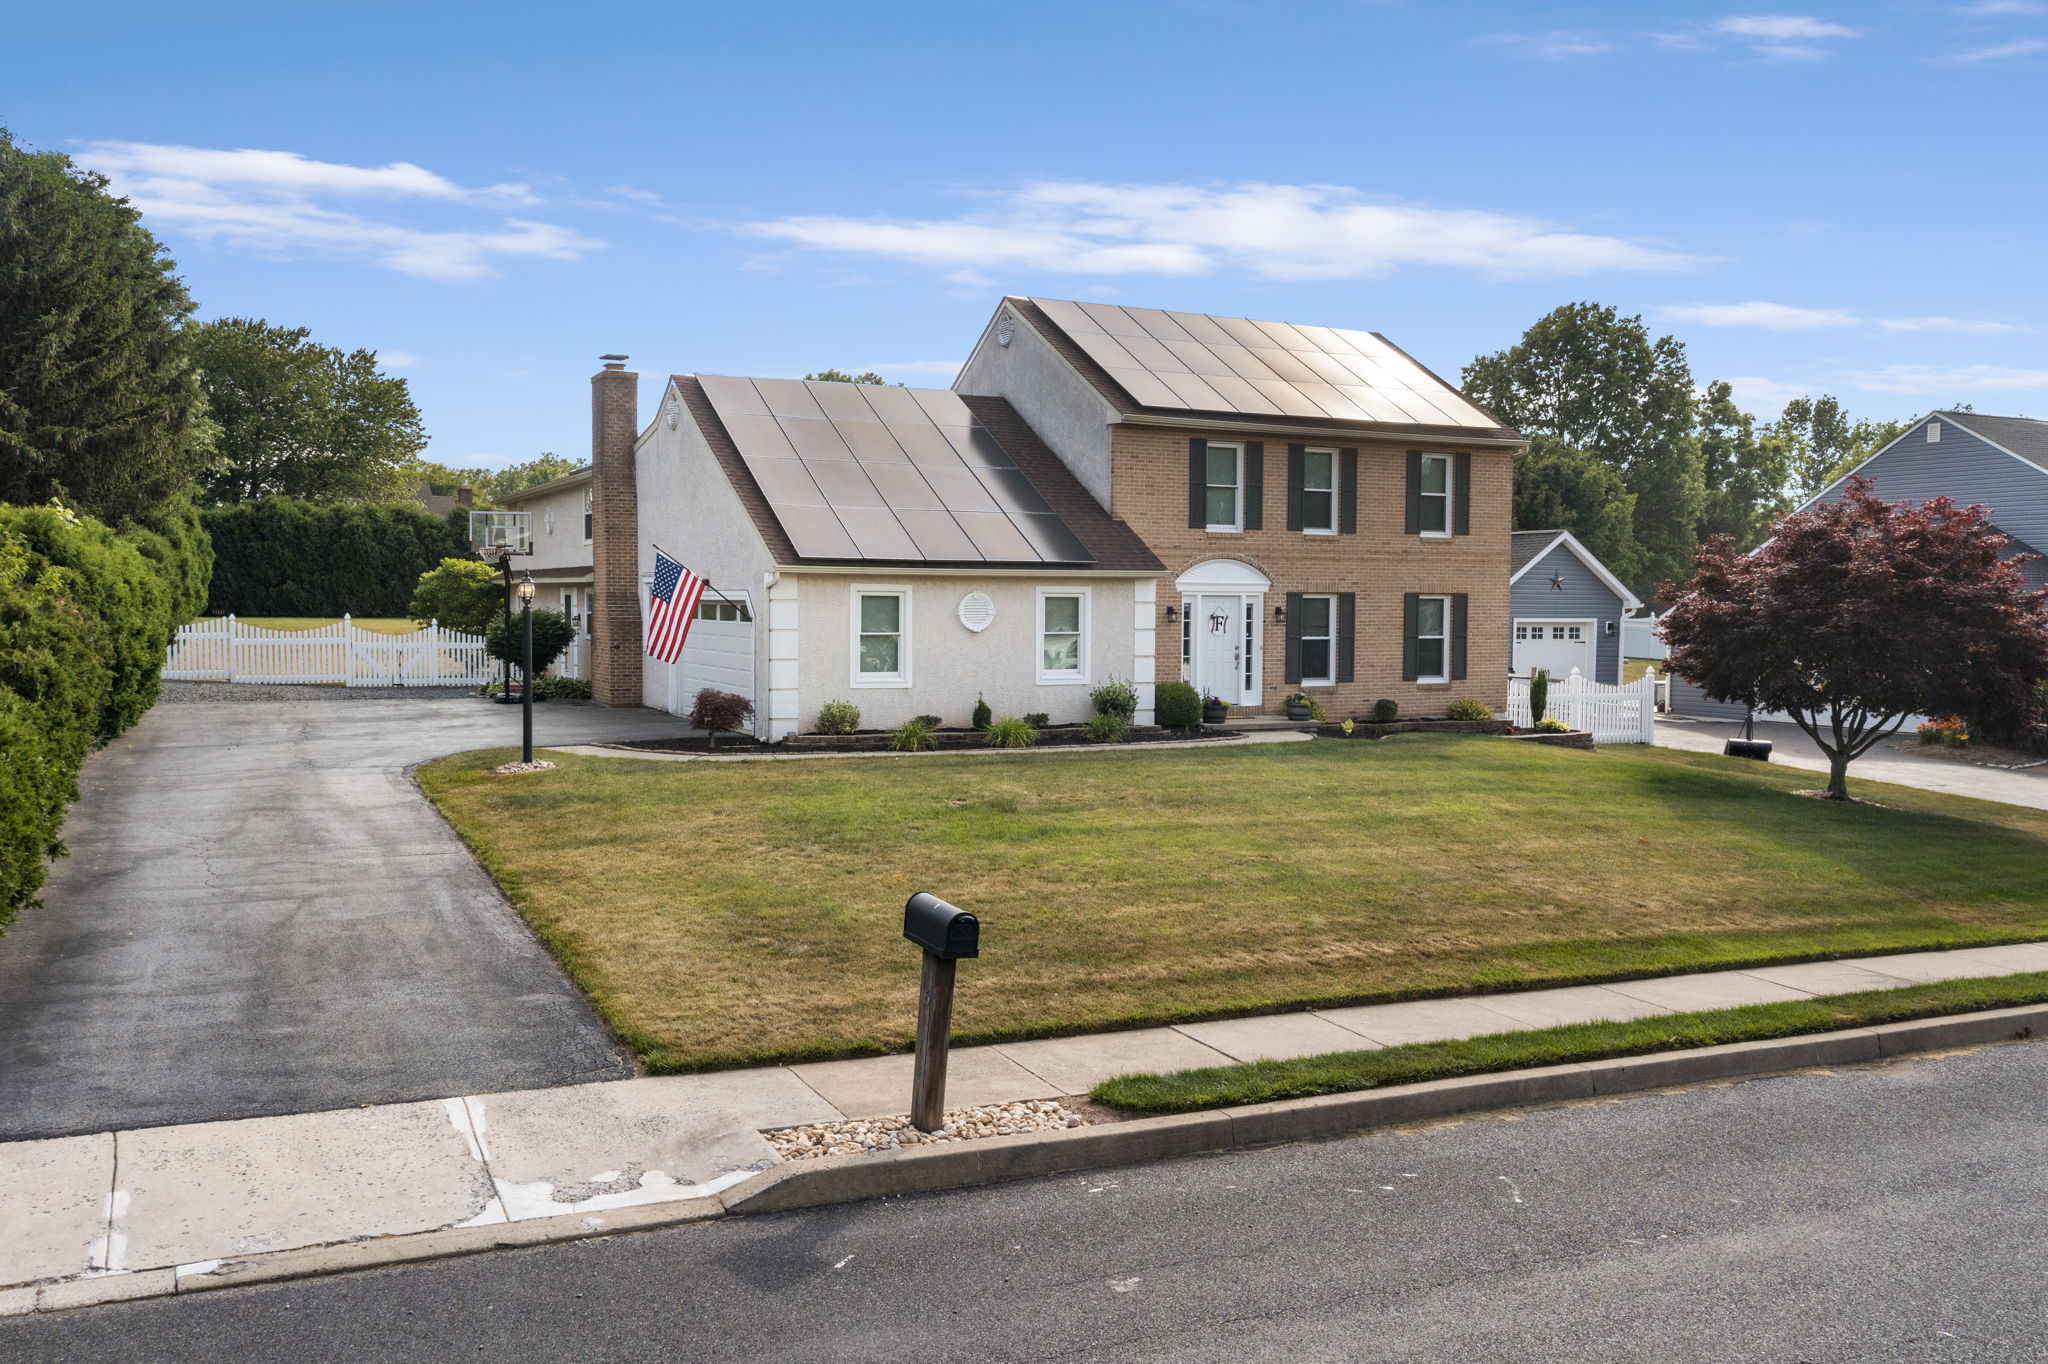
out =
[[[2048,422],[1929,412],[1798,510],[1839,500],[1855,475],[1890,502],[1954,498],[1960,506],[1989,508],[1991,522],[2013,541],[2013,555],[2048,547]],[[2048,559],[2028,563],[2028,580],[2048,586]],[[1671,680],[1671,709],[1704,719],[1743,717],[1743,707],[1708,700],[1681,678]]]

